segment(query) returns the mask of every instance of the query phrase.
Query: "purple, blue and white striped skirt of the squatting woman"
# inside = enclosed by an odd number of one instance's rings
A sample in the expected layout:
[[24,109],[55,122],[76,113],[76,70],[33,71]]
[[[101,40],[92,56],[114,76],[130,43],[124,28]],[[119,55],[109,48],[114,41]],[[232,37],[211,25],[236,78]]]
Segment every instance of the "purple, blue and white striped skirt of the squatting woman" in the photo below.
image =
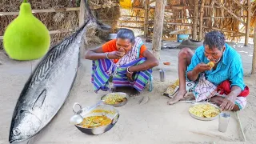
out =
[[109,90],[109,78],[113,76],[114,86],[133,86],[136,90],[142,91],[146,83],[152,77],[152,70],[144,70],[134,73],[134,82],[129,82],[126,77],[128,66],[139,65],[145,62],[146,58],[140,58],[123,66],[116,66],[110,59],[98,59],[93,61],[91,82],[94,84],[94,91]]

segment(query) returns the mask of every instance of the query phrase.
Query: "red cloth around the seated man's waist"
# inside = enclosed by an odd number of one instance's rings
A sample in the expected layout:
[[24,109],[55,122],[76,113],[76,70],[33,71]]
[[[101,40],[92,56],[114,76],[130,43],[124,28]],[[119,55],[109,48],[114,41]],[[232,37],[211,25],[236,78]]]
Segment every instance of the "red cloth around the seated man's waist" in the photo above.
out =
[[[231,82],[229,80],[226,80],[222,82],[220,85],[218,85],[217,91],[221,91],[220,94],[230,94],[231,92],[230,85],[231,85]],[[250,93],[249,87],[246,86],[245,90],[243,90],[238,96],[247,97],[249,93]]]

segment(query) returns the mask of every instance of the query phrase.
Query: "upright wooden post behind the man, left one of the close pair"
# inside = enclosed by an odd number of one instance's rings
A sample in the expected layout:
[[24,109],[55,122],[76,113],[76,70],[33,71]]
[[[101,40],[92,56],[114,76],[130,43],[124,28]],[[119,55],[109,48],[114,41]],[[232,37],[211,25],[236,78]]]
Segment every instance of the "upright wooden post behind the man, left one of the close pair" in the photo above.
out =
[[194,19],[193,19],[193,33],[192,33],[192,39],[197,40],[197,34],[198,34],[198,2],[199,0],[194,0]]

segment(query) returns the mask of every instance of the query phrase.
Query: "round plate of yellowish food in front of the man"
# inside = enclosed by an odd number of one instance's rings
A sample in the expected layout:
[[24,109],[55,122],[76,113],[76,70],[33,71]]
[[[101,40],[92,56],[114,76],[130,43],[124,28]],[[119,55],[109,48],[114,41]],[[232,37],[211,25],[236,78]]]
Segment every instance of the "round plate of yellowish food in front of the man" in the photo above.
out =
[[218,118],[221,110],[218,106],[208,102],[197,102],[189,108],[190,116],[202,120],[211,121]]

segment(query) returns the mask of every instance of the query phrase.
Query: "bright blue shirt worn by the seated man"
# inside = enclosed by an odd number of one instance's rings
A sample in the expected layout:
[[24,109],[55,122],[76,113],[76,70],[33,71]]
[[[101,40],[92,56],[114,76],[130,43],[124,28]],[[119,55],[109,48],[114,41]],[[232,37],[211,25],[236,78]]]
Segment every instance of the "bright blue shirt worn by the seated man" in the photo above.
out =
[[[242,59],[240,54],[228,44],[225,44],[226,50],[224,50],[222,59],[218,62],[216,70],[206,70],[206,79],[212,82],[215,86],[218,86],[225,80],[230,80],[230,86],[239,86],[241,90],[244,90],[245,84],[243,82],[243,69],[242,69]],[[190,66],[186,70],[187,72],[194,70],[194,67],[199,63],[208,63],[209,60],[204,54],[204,46],[199,46],[195,50],[195,54],[191,59]],[[188,79],[188,78],[187,78]]]

